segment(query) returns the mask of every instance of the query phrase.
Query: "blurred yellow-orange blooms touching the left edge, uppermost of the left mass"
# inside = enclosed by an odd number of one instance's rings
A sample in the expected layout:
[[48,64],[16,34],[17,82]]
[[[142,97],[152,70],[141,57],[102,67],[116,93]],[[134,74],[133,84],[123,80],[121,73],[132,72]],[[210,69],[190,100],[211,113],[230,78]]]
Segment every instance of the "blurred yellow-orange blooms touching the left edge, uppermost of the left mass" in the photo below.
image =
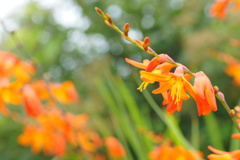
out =
[[[9,52],[0,51],[0,111],[8,114],[5,104],[19,105],[22,103],[22,86],[29,82],[35,68]],[[11,81],[10,81],[11,79]]]

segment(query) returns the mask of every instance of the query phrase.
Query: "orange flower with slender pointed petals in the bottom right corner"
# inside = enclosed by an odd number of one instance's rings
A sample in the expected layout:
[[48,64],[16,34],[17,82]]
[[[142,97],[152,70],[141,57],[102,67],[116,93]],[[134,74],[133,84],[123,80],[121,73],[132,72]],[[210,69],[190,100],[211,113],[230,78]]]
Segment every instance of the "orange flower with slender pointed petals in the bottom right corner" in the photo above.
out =
[[208,146],[208,149],[216,153],[208,155],[209,160],[240,160],[240,150],[226,152],[215,149],[212,146]]

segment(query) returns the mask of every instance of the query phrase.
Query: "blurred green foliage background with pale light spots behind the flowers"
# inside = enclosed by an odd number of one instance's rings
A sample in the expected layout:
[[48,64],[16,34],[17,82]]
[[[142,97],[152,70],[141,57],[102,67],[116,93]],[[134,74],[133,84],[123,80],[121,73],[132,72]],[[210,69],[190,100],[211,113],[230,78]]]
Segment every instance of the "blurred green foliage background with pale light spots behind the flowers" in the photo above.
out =
[[[136,88],[138,71],[125,57],[142,61],[152,56],[126,42],[107,27],[94,7],[109,13],[114,23],[122,28],[131,24],[130,37],[151,39],[151,48],[167,53],[192,72],[204,71],[225,93],[231,107],[239,103],[239,87],[224,73],[226,64],[216,58],[217,52],[240,58],[239,48],[232,39],[240,39],[239,12],[228,11],[224,21],[209,15],[214,1],[187,0],[22,0],[0,2],[0,48],[17,53],[22,59],[33,59],[42,72],[54,82],[71,80],[76,85],[80,102],[69,108],[72,112],[88,113],[91,125],[104,137],[115,135],[138,159],[137,152],[148,152],[146,135],[139,128],[163,133],[181,144],[168,128],[163,113],[161,95],[151,95],[157,85],[143,93]],[[188,100],[183,110],[165,117],[177,124],[184,137],[197,150],[207,155],[207,145],[224,150],[238,146],[230,140],[233,125],[223,107],[208,116],[197,116],[196,104]],[[33,155],[29,148],[17,144],[21,125],[0,117],[0,159],[53,159]],[[141,130],[141,129],[140,129]],[[135,138],[134,138],[135,137]],[[143,152],[143,153],[144,153]],[[70,158],[71,157],[71,158]],[[144,157],[144,156],[143,156]],[[66,159],[74,159],[72,153]],[[144,158],[143,158],[144,159]]]

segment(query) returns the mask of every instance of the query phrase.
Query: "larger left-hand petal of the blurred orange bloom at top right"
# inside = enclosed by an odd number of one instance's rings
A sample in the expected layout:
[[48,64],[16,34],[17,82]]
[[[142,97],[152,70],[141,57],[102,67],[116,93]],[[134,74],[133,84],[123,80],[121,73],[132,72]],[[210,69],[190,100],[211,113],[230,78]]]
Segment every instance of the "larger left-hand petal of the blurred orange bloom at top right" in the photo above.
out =
[[219,19],[226,17],[226,9],[229,4],[229,0],[216,0],[210,8],[210,14]]

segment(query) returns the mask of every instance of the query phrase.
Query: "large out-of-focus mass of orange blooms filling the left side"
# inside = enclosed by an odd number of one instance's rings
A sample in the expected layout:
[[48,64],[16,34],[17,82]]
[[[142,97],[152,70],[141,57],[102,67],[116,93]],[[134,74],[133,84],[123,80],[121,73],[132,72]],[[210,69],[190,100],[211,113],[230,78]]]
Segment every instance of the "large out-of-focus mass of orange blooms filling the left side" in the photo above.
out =
[[103,143],[89,128],[87,114],[62,113],[57,108],[56,102],[71,104],[78,100],[71,81],[32,81],[35,72],[33,65],[21,61],[15,54],[0,52],[0,112],[11,115],[6,104],[23,105],[28,116],[20,117],[25,128],[18,138],[19,144],[31,146],[34,153],[42,150],[46,155],[62,156],[69,146],[80,148],[80,152],[96,160],[106,159],[97,153],[100,147],[106,147],[113,158],[125,156],[125,149],[116,138],[107,137]]

